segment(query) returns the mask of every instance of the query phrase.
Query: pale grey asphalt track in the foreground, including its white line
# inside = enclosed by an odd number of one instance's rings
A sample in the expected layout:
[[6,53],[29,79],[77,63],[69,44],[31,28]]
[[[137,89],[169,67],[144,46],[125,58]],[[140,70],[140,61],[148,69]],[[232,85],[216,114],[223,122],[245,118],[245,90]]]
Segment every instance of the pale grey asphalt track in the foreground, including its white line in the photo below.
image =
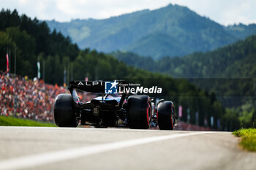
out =
[[256,169],[229,132],[0,127],[0,169]]

